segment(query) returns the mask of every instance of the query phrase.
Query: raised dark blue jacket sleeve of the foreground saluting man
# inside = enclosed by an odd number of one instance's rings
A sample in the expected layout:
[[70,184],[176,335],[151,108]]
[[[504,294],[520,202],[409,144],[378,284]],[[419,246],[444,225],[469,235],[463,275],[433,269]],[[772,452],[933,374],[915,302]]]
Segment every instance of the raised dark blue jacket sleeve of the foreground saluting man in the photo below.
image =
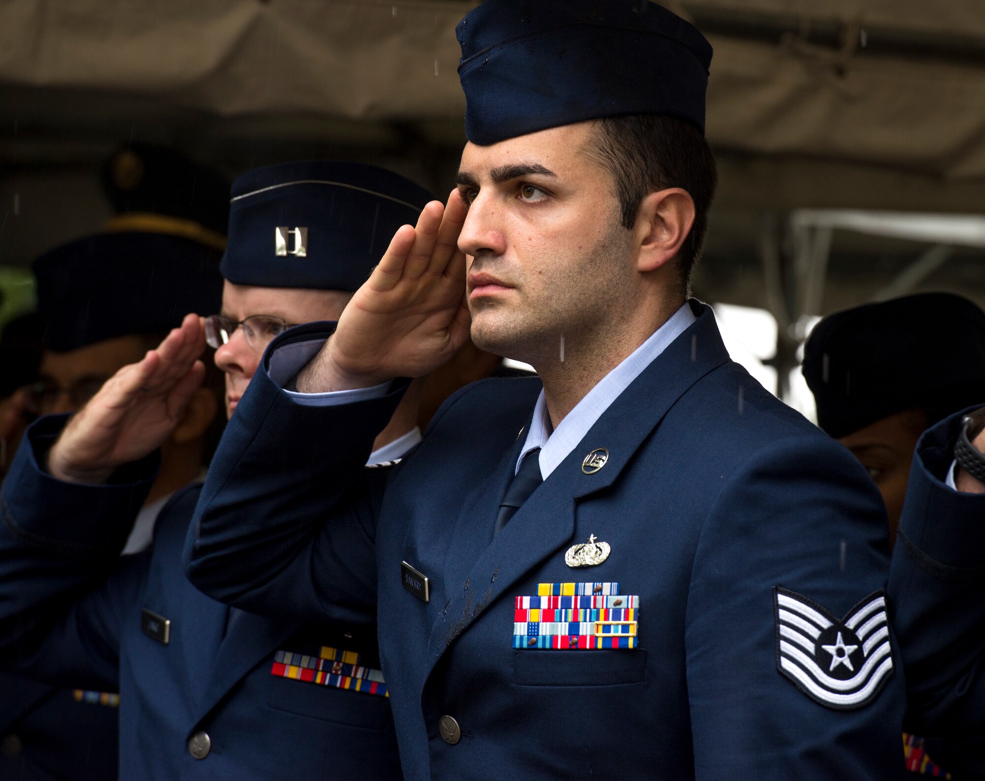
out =
[[375,616],[386,479],[364,464],[408,383],[352,403],[302,403],[272,379],[271,356],[330,332],[302,326],[268,348],[213,458],[184,563],[196,587],[236,607],[361,622]]

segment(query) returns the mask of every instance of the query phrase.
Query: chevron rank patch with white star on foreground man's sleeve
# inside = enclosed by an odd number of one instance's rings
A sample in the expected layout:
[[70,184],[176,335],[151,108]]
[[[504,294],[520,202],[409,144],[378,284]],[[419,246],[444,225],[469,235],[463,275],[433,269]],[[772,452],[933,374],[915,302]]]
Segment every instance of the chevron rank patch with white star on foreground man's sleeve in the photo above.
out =
[[773,589],[776,669],[821,705],[868,704],[892,678],[886,594],[870,594],[843,619],[781,586]]

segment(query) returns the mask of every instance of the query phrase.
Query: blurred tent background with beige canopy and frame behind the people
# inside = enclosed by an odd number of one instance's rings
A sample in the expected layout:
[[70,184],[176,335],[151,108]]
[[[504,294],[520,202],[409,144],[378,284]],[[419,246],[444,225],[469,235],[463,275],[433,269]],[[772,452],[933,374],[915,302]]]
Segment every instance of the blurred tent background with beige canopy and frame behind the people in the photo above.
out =
[[[980,0],[666,4],[715,47],[721,184],[694,293],[757,379],[810,414],[797,366],[820,316],[921,290],[985,306]],[[464,144],[454,27],[474,5],[6,0],[0,320],[30,306],[34,257],[111,216],[100,166],[120,144],[230,177],[365,160],[447,192]]]

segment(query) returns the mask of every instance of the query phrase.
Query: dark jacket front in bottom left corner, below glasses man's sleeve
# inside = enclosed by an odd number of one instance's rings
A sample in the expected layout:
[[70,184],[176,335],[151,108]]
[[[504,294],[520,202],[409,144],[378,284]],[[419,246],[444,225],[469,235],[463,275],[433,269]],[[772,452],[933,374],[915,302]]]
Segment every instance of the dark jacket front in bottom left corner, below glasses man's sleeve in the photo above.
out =
[[0,779],[115,779],[117,699],[0,673]]

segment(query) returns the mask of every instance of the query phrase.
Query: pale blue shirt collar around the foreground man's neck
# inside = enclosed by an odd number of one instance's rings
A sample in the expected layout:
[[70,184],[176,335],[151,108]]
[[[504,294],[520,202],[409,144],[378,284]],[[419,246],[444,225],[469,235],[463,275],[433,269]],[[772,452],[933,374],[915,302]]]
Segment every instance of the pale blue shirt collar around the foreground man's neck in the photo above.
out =
[[564,416],[558,428],[552,431],[551,415],[548,412],[544,391],[537,397],[534,406],[534,417],[530,423],[530,431],[523,444],[523,451],[516,460],[516,469],[528,452],[540,448],[541,476],[547,480],[558,464],[568,453],[577,447],[578,443],[588,434],[588,430],[602,417],[602,414],[612,406],[620,394],[629,387],[643,370],[649,366],[667,346],[680,336],[694,322],[694,313],[686,302],[670,320],[655,330],[650,337],[640,344],[624,359],[623,363],[613,369],[592,389],[589,390],[574,409]]

